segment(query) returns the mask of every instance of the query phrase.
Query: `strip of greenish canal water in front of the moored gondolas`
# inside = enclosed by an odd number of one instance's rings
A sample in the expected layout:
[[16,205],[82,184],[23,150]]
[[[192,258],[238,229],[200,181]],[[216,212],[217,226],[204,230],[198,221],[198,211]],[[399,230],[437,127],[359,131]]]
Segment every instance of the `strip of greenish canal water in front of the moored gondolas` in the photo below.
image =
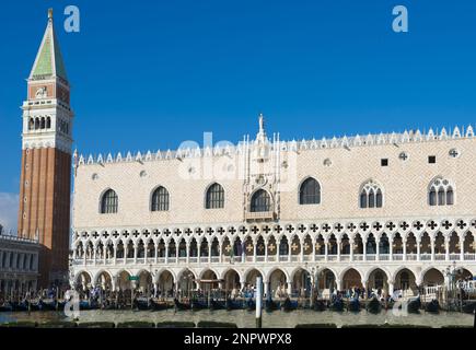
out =
[[[310,310],[298,310],[290,313],[276,311],[272,313],[263,313],[264,328],[293,328],[297,324],[336,324],[337,327],[343,325],[356,324],[404,324],[404,325],[423,325],[439,328],[442,326],[473,326],[474,319],[471,314],[441,312],[440,314],[429,314],[420,312],[420,314],[408,314],[406,316],[395,315],[392,311],[382,311],[380,314],[370,314],[367,311],[359,313],[351,312],[314,312]],[[63,313],[57,312],[32,312],[28,313],[0,313],[0,323],[19,322],[19,320],[36,320],[38,323],[47,320],[72,320],[65,316]],[[213,320],[229,322],[236,324],[240,328],[255,327],[255,313],[248,311],[81,311],[79,322],[130,322],[130,320],[147,320],[147,322],[195,322]]]

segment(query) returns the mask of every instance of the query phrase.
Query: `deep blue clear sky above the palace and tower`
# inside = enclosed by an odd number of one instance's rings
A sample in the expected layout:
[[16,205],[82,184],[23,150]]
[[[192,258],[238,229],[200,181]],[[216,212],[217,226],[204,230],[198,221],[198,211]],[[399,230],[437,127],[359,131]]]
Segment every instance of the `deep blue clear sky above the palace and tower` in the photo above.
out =
[[[80,32],[67,33],[67,5]],[[408,32],[395,33],[395,5]],[[467,126],[476,116],[476,1],[18,0],[0,30],[0,223],[15,229],[21,109],[55,25],[83,154]]]

